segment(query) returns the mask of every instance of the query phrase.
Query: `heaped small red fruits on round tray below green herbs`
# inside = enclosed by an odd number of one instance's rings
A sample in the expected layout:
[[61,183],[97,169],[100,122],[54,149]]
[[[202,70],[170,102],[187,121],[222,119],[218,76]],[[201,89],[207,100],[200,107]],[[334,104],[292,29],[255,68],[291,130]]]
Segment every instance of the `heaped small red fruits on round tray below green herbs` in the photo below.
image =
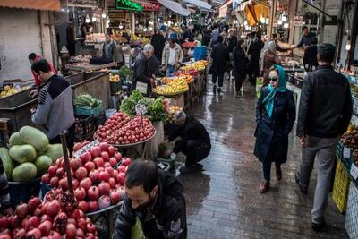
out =
[[146,141],[155,133],[153,124],[146,117],[133,119],[123,112],[111,115],[104,125],[99,125],[95,132],[98,141],[115,145],[125,145]]

